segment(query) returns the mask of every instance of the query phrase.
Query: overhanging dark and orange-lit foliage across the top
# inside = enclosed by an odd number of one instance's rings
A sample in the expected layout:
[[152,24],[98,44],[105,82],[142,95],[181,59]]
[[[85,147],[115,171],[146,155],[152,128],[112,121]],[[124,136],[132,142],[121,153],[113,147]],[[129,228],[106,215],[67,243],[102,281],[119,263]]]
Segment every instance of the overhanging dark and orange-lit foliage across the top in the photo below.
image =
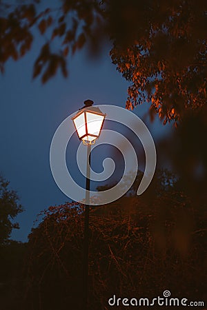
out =
[[[68,54],[110,38],[112,63],[127,81],[126,108],[150,103],[166,123],[181,120],[206,104],[206,1],[80,0],[57,7],[9,5],[0,1],[0,69],[32,46],[34,26],[46,38],[34,61],[33,78],[46,83],[58,70],[67,76]],[[54,45],[56,52],[53,52]]]

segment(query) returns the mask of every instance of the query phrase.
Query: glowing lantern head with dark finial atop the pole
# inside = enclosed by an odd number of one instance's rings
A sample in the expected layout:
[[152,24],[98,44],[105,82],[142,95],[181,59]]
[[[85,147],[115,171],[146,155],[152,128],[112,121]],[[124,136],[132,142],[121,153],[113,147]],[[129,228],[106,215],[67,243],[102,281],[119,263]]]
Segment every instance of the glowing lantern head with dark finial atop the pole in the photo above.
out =
[[[87,102],[89,102],[88,105]],[[92,103],[89,100],[85,101],[85,106],[72,118],[79,139],[86,145],[94,144],[99,138],[106,117],[99,107],[92,107]]]

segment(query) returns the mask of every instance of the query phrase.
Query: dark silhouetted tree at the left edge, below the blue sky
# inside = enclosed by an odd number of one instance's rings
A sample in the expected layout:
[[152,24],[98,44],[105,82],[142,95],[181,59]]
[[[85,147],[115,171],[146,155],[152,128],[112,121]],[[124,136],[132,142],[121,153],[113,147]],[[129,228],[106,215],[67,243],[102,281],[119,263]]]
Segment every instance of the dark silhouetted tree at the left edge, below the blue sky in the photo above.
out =
[[12,229],[19,229],[14,218],[23,211],[17,192],[0,176],[0,300],[5,310],[18,308],[21,302],[25,245],[10,240]]

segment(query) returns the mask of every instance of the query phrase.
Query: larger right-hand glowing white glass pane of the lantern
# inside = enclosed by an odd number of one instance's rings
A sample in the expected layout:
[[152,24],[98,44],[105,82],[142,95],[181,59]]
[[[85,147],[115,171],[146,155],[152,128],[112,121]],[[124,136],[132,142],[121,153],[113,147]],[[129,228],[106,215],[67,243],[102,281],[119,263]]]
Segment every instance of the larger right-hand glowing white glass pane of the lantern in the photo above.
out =
[[104,116],[102,115],[86,112],[88,134],[94,134],[95,136],[99,136],[103,119]]

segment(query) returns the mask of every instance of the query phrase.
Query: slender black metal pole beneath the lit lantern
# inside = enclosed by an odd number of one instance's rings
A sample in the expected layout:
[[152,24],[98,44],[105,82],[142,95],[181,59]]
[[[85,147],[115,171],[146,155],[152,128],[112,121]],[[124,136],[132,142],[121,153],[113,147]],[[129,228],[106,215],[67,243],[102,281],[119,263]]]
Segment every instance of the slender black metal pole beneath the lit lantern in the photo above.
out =
[[86,205],[84,220],[83,240],[83,310],[88,309],[88,240],[89,240],[89,211],[90,211],[90,150],[87,145],[87,168],[86,168]]

